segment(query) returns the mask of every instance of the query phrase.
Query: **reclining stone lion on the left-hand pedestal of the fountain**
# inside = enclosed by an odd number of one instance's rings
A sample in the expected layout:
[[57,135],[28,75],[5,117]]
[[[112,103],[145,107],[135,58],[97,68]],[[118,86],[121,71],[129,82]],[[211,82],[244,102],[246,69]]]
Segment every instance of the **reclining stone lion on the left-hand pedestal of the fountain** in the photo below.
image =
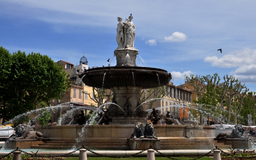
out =
[[32,126],[26,124],[19,124],[15,128],[15,134],[10,139],[28,139],[28,138],[37,138],[44,139],[43,133],[34,131]]

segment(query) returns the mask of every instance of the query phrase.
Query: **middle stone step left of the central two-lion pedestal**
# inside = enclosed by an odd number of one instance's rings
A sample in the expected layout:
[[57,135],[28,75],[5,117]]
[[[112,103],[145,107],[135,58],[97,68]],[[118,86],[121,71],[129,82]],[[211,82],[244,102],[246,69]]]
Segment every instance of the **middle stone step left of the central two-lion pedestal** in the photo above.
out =
[[40,143],[38,144],[39,146],[128,146],[129,144],[128,143],[110,143],[110,144],[107,144],[107,143],[102,143],[102,144],[99,144],[99,143],[81,143],[81,144],[72,144],[72,143]]

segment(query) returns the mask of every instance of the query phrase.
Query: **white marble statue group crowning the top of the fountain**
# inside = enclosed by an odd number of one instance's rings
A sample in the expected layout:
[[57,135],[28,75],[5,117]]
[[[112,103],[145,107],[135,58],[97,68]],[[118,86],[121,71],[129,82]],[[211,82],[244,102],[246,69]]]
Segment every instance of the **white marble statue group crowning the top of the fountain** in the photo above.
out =
[[122,17],[117,17],[116,42],[119,47],[134,47],[135,26],[132,22],[132,14],[126,21],[122,22]]

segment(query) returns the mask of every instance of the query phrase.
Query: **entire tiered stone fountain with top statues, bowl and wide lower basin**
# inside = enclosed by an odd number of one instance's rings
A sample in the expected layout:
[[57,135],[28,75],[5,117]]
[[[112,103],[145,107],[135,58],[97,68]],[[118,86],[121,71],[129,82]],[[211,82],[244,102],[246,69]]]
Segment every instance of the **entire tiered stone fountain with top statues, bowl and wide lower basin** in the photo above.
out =
[[[86,125],[35,126],[35,130],[43,133],[49,141],[38,146],[31,146],[31,148],[70,149],[73,145],[84,144],[89,149],[97,150],[133,150],[133,147],[128,144],[127,137],[131,137],[135,124],[140,122],[145,126],[147,123],[145,116],[151,111],[144,110],[142,106],[140,101],[141,90],[167,85],[172,77],[166,70],[136,65],[139,50],[134,48],[135,26],[131,22],[132,18],[132,16],[129,16],[129,19],[125,22],[121,21],[121,17],[118,18],[119,25],[116,40],[119,46],[114,51],[116,66],[110,66],[109,63],[108,67],[91,68],[80,75],[83,83],[87,86],[111,89],[113,91],[113,100],[109,103],[110,106],[106,111],[107,115],[110,115],[112,122],[109,120],[109,125],[87,123]],[[141,60],[144,63],[144,60]],[[140,66],[142,65],[140,64]],[[100,108],[92,108],[92,110],[99,112]],[[158,109],[156,108],[156,110]],[[63,115],[62,117],[69,119],[68,122],[72,119],[68,118],[68,115]],[[91,118],[93,122],[96,119],[96,113],[95,117]],[[98,124],[101,124],[104,119],[106,120],[104,115],[101,118],[97,118]],[[174,122],[173,119],[167,119],[167,121]],[[145,126],[145,128],[148,127],[152,128],[153,124]],[[205,149],[208,147],[207,143],[201,146],[191,145],[191,143],[213,139],[215,127],[154,125],[154,132],[150,136],[153,139],[146,140],[145,144],[148,145],[155,141],[157,143],[156,146],[158,146],[156,148],[163,150],[200,147]],[[158,139],[154,139],[155,137]],[[187,143],[188,146],[184,147],[184,143]]]

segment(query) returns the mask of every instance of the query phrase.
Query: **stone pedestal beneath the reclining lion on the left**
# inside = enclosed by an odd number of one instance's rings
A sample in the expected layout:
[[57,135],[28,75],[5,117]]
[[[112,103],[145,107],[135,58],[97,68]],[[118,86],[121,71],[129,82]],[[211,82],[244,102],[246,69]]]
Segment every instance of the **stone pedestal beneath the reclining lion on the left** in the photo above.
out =
[[19,149],[30,149],[31,146],[39,145],[39,143],[45,143],[42,139],[17,139],[17,140],[6,140],[5,149],[15,150]]

